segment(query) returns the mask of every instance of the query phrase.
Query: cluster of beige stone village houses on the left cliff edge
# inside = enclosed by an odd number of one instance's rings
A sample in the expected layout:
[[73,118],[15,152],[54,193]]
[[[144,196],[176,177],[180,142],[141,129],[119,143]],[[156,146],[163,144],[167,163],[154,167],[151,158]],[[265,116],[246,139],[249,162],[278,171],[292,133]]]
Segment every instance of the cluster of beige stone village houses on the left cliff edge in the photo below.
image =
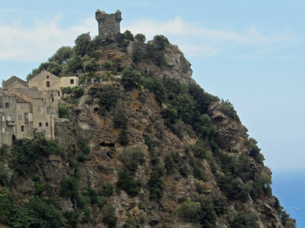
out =
[[32,138],[36,128],[54,138],[54,123],[58,119],[60,87],[78,86],[77,77],[58,78],[43,70],[27,82],[11,77],[3,81],[0,90],[0,145],[10,145],[20,138]]

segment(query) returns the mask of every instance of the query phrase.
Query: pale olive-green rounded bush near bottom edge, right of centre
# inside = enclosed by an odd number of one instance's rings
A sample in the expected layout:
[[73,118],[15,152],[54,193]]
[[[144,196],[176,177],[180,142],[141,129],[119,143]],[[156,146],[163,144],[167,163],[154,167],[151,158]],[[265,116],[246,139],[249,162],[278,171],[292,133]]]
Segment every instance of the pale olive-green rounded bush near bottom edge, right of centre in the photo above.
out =
[[181,203],[177,209],[177,215],[184,218],[187,222],[199,222],[200,221],[201,204],[199,202],[193,202],[191,198]]

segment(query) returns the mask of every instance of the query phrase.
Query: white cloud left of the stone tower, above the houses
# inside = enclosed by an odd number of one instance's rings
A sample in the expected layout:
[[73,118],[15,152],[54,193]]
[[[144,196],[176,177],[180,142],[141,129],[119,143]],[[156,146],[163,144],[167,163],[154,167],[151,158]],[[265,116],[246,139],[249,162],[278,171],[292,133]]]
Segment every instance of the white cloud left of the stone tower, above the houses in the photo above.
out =
[[77,26],[60,28],[56,17],[51,21],[36,21],[31,27],[15,22],[0,24],[0,60],[37,61],[47,59],[59,47],[73,46],[75,38],[87,31],[97,30],[94,19],[84,19]]

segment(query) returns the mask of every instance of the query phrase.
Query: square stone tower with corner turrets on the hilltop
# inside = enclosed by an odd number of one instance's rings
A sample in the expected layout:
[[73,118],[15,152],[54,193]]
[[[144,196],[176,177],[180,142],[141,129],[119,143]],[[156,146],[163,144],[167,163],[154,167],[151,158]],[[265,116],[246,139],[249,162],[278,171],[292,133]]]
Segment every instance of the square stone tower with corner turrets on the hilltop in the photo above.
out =
[[122,18],[119,10],[115,14],[106,14],[105,11],[97,10],[96,20],[99,23],[99,35],[102,37],[120,32],[119,23]]

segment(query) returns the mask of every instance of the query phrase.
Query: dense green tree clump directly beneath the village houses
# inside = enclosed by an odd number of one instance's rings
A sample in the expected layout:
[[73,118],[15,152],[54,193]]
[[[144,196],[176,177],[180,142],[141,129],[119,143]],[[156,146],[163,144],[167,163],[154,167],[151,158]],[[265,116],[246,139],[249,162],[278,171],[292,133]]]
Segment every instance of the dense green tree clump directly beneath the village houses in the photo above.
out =
[[12,148],[12,161],[9,165],[17,175],[31,175],[36,168],[35,162],[45,155],[65,154],[62,146],[47,140],[44,132],[37,132],[37,130],[34,131],[32,140],[21,139],[17,144]]

